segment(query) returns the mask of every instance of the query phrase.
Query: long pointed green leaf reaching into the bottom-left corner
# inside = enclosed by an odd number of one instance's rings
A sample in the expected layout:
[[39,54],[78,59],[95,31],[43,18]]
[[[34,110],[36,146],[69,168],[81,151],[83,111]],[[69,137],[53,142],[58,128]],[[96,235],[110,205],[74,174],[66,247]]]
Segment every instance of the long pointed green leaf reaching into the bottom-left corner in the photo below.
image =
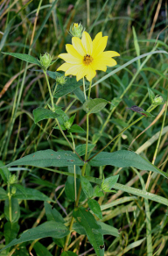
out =
[[[68,235],[69,231],[64,224],[55,221],[47,221],[38,227],[25,231],[20,238],[14,239],[9,245],[6,245],[1,251],[20,243],[32,241],[40,238],[64,238]],[[0,252],[1,252],[0,251]]]

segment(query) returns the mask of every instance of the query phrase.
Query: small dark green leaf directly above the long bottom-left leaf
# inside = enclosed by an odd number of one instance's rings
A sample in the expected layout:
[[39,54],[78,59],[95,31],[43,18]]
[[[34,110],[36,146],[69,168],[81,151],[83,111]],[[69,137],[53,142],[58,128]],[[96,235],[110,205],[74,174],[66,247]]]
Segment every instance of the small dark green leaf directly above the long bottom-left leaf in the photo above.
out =
[[45,214],[48,221],[54,220],[62,224],[65,223],[64,218],[60,215],[59,211],[52,208],[52,205],[45,202]]

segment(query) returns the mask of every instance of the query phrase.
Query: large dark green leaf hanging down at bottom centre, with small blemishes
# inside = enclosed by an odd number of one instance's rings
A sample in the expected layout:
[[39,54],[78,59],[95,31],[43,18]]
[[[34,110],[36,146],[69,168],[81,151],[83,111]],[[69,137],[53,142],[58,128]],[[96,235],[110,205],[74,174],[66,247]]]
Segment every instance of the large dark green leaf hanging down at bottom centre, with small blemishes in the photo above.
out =
[[97,224],[95,217],[83,207],[73,210],[73,217],[84,227],[88,240],[93,245],[96,255],[104,256],[102,228]]

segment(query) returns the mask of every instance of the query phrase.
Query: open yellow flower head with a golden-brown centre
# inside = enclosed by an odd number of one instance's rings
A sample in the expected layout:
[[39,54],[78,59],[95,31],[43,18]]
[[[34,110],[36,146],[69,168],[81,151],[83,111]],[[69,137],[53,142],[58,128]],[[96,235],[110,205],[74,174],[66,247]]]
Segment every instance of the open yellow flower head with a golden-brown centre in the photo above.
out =
[[76,75],[77,81],[84,76],[91,81],[96,75],[95,70],[106,71],[107,66],[116,66],[116,60],[112,57],[120,54],[114,51],[103,52],[107,41],[108,37],[102,37],[102,32],[99,32],[93,41],[88,32],[83,32],[81,39],[73,37],[73,45],[66,45],[67,53],[59,54],[59,58],[66,63],[57,70],[65,71],[65,75]]

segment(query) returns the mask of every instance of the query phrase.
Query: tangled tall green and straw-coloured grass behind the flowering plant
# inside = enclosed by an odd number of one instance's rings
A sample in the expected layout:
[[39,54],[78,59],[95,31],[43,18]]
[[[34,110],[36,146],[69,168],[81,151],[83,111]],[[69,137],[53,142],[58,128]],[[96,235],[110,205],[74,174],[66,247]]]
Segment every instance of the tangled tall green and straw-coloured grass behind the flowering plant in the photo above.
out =
[[[2,52],[27,53],[39,58],[40,53],[51,53],[54,60],[59,53],[65,53],[66,43],[71,43],[68,33],[70,25],[80,23],[94,38],[97,32],[108,35],[106,50],[121,54],[117,66],[121,67],[128,61],[151,51],[167,51],[167,1],[58,1],[51,13],[53,1],[1,1],[0,2],[0,48]],[[148,59],[146,59],[148,58]],[[57,60],[51,71],[62,63]],[[142,67],[143,64],[143,67]],[[107,74],[115,68],[108,68]],[[9,163],[37,150],[51,148],[55,151],[68,149],[66,141],[59,131],[52,131],[52,121],[34,124],[32,110],[48,103],[49,93],[45,77],[35,71],[32,64],[0,53],[0,153],[1,160]],[[135,119],[137,113],[127,107],[137,105],[144,110],[150,106],[148,87],[156,95],[167,99],[168,59],[165,53],[155,53],[132,62],[127,67],[109,76],[108,79],[96,83],[92,89],[93,97],[120,101],[113,110],[102,110],[96,117],[90,117],[90,142],[96,133],[102,133],[96,150],[105,146],[109,139],[121,132],[127,124]],[[104,74],[97,72],[94,82]],[[94,83],[93,82],[93,83]],[[59,105],[65,106],[73,101],[73,95],[63,97]],[[69,109],[71,115],[81,110],[76,103]],[[152,114],[154,117],[143,118],[142,121],[124,132],[116,141],[109,145],[108,151],[130,149],[140,153],[144,158],[163,171],[167,171],[168,154],[168,121],[165,115],[166,106],[160,105]],[[164,116],[165,115],[165,116]],[[81,111],[76,116],[76,124],[85,127],[86,114]],[[160,133],[161,131],[161,133]],[[141,133],[141,135],[140,135]],[[140,135],[140,136],[138,136]],[[76,135],[75,143],[85,143],[85,138]],[[133,141],[135,139],[135,141]],[[132,143],[133,142],[133,143]],[[11,168],[11,171],[17,171]],[[133,188],[148,189],[149,192],[168,198],[168,182],[159,174],[151,176],[135,168],[95,167],[91,175],[102,178],[120,174],[119,182]],[[66,200],[63,193],[59,194],[66,182],[66,176],[55,174],[36,167],[19,168],[16,172],[20,184],[27,188],[36,188],[46,196],[57,199],[57,210],[66,217],[73,210],[73,204]],[[1,179],[1,185],[3,180]],[[54,186],[53,186],[54,185]],[[149,186],[148,186],[149,185]],[[148,188],[147,188],[148,187]],[[114,202],[114,203],[112,203]],[[118,238],[105,236],[105,255],[167,255],[168,254],[168,210],[167,206],[149,201],[148,212],[145,212],[145,201],[142,197],[132,196],[123,191],[106,194],[99,203],[111,203],[111,207],[103,210],[103,221],[114,225],[119,231]],[[1,232],[0,241],[4,243],[4,203],[0,203]],[[21,201],[19,218],[20,231],[25,231],[45,222],[44,204],[41,201]],[[67,216],[68,217],[68,216]],[[149,218],[148,218],[149,217]],[[148,231],[151,234],[152,252],[143,238]],[[149,242],[149,241],[148,241]],[[60,248],[52,242],[52,238],[40,241],[52,255],[59,255]],[[27,247],[28,248],[28,247]],[[109,248],[109,250],[107,250]],[[27,249],[28,250],[28,249]],[[91,245],[81,235],[73,232],[69,250],[78,255],[95,255]],[[28,251],[23,251],[29,255]],[[19,252],[21,253],[21,252]],[[36,255],[33,249],[32,255]],[[93,253],[93,254],[92,254]],[[3,254],[4,255],[4,254]],[[10,254],[9,254],[10,255]],[[42,254],[41,254],[42,255]]]

